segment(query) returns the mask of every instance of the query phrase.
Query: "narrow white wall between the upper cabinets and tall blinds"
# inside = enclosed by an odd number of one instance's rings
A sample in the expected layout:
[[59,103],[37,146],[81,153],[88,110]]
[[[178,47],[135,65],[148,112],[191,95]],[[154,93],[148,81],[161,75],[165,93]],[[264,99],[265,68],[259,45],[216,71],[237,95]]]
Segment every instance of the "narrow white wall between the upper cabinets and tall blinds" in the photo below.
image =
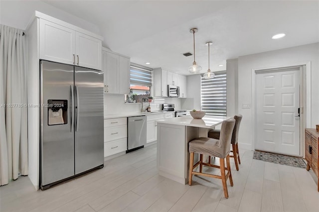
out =
[[[186,85],[187,85],[187,98],[193,99],[192,100],[193,108],[191,109],[201,110],[200,74],[188,75]],[[183,102],[185,103],[186,101],[183,101]],[[190,102],[191,100],[187,101],[187,106],[191,106]]]

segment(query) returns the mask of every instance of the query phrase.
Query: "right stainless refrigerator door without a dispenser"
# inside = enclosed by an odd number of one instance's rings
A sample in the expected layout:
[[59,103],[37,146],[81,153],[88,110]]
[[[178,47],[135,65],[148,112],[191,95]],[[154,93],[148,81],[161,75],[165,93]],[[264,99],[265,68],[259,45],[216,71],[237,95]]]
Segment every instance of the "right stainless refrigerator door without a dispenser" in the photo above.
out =
[[104,164],[103,72],[74,67],[75,174]]

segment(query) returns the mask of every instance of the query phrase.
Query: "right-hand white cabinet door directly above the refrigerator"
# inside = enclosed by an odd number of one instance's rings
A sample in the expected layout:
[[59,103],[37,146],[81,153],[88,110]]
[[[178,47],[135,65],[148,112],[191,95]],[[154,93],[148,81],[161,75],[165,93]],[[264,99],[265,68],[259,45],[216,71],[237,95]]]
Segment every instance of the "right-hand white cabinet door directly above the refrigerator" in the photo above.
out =
[[91,69],[102,68],[102,41],[83,34],[75,33],[76,65]]

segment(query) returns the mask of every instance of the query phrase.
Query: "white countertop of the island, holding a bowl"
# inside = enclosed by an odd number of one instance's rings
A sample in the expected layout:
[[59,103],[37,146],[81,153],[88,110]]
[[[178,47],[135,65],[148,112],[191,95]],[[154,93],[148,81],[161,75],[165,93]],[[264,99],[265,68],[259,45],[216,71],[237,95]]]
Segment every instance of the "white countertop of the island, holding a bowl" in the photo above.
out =
[[175,118],[160,119],[157,120],[157,122],[184,126],[195,126],[202,128],[214,128],[216,125],[220,124],[223,120],[226,120],[228,118],[231,117],[205,115],[201,119],[195,119],[191,115],[186,115]]

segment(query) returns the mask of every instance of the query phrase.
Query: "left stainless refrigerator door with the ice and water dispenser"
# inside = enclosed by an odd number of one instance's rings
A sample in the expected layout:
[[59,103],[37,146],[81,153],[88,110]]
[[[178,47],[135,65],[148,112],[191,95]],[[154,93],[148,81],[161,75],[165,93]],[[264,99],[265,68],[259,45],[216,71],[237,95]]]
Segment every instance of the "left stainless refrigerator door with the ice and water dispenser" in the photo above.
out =
[[[40,181],[41,186],[45,186],[74,175],[74,109],[71,97],[74,68],[47,61],[41,61],[40,67]],[[56,111],[52,111],[48,106],[49,100],[66,101],[67,109],[64,105],[63,111],[60,110],[58,107],[62,105],[58,104],[62,102],[54,102],[57,107]],[[61,116],[61,111],[66,114]],[[51,123],[48,117],[52,118]]]

